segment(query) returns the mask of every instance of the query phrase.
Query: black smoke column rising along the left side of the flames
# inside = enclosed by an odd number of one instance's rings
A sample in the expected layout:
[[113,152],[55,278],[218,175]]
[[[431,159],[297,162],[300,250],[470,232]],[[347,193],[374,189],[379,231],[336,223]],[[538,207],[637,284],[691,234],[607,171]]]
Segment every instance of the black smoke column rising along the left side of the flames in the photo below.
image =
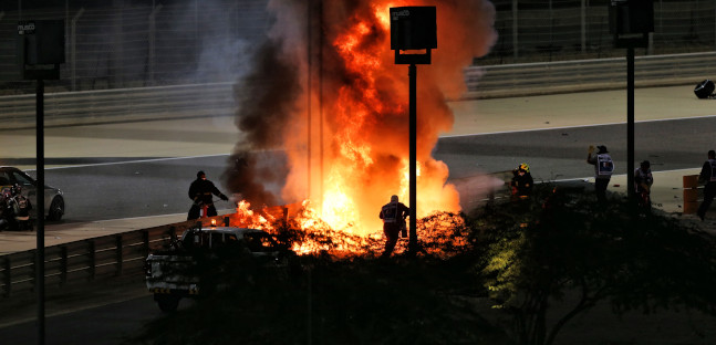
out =
[[282,52],[282,40],[267,39],[250,59],[250,73],[234,87],[236,126],[240,129],[235,153],[221,175],[225,186],[252,206],[276,206],[289,172],[280,150],[283,130],[302,93],[298,64]]

